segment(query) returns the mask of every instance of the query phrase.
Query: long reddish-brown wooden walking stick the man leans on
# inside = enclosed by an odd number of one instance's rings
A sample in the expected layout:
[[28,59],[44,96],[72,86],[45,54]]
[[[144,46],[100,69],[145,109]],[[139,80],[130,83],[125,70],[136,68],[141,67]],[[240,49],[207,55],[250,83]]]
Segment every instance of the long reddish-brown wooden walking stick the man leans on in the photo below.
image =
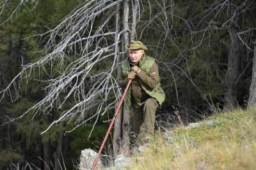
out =
[[110,125],[109,125],[109,127],[108,127],[108,131],[106,132],[105,137],[104,137],[104,139],[103,139],[103,141],[102,141],[102,143],[101,143],[100,150],[99,150],[99,152],[98,152],[98,154],[97,154],[97,157],[95,158],[95,160],[94,160],[94,162],[93,162],[93,165],[92,165],[92,169],[91,169],[91,170],[94,170],[95,167],[96,167],[96,165],[97,165],[98,159],[99,159],[99,157],[100,157],[100,153],[102,152],[102,149],[103,149],[103,147],[104,147],[104,145],[105,145],[105,143],[106,143],[106,141],[107,141],[107,139],[108,139],[109,132],[111,131],[111,128],[113,127],[113,124],[114,124],[114,122],[115,122],[116,116],[118,115],[118,112],[119,112],[119,110],[120,110],[120,108],[121,108],[121,106],[122,106],[122,103],[123,103],[123,101],[124,101],[124,97],[126,96],[126,94],[127,94],[127,92],[128,92],[128,89],[129,89],[131,83],[132,83],[132,80],[129,80],[128,83],[127,83],[127,85],[126,85],[126,87],[125,87],[125,89],[124,89],[124,93],[123,93],[123,95],[122,95],[122,97],[121,97],[121,99],[120,99],[120,101],[119,101],[119,103],[118,103],[118,106],[117,106],[117,108],[116,108],[115,115],[114,115],[113,119],[111,120],[111,123],[110,123]]

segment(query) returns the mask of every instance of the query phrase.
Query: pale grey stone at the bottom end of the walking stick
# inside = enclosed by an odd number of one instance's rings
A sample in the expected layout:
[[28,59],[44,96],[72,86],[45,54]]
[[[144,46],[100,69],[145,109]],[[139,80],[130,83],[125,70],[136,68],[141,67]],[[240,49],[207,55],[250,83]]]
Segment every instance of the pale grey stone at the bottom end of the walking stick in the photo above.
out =
[[[96,157],[97,157],[97,152],[93,151],[92,149],[82,150],[80,155],[79,169],[80,170],[91,169],[92,164]],[[98,159],[97,167],[102,168],[102,162],[100,161],[100,159]]]

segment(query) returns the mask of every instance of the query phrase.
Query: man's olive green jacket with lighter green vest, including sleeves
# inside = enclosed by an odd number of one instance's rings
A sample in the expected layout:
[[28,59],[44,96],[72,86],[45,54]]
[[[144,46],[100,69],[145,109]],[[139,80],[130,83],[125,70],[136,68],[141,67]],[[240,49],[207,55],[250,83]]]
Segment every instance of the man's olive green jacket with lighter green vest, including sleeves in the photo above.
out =
[[[127,94],[126,101],[128,105],[131,105],[131,95],[140,96],[135,97],[139,98],[136,100],[137,104],[141,104],[145,102],[145,99],[148,97],[153,97],[158,101],[161,105],[164,102],[165,94],[163,89],[161,88],[160,78],[157,67],[157,60],[144,55],[140,60],[138,66],[141,71],[136,75],[136,78],[132,80],[132,92]],[[131,71],[131,65],[129,62],[129,57],[122,62],[122,78],[119,80],[120,86],[125,87],[128,82],[128,74]],[[136,94],[140,92],[140,89],[143,89],[141,94]],[[141,100],[141,101],[140,101]]]

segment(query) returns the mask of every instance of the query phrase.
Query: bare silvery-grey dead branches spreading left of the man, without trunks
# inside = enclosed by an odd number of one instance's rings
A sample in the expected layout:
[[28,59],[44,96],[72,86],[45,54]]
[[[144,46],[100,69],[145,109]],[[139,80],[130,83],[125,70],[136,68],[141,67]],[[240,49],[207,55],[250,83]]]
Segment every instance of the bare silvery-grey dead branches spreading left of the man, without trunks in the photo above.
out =
[[[40,80],[47,83],[44,88],[47,92],[46,96],[18,118],[24,117],[29,112],[47,114],[52,108],[60,109],[63,107],[68,99],[74,99],[76,104],[72,108],[63,111],[59,118],[54,120],[44,132],[47,132],[52,125],[62,121],[70,122],[71,120],[74,120],[74,129],[76,129],[79,125],[93,118],[96,119],[96,124],[100,115],[104,115],[109,108],[115,106],[116,99],[111,101],[108,97],[110,93],[118,92],[118,85],[113,77],[117,60],[115,47],[120,45],[118,39],[125,31],[120,31],[118,34],[115,31],[108,31],[107,24],[109,20],[115,17],[113,13],[102,18],[102,20],[100,20],[100,17],[102,17],[102,13],[110,13],[111,9],[121,2],[122,0],[86,1],[63,18],[54,29],[37,35],[49,35],[45,45],[47,55],[42,56],[35,63],[22,66],[22,71],[10,82],[6,89],[1,90],[1,99],[6,95],[12,96],[11,88],[18,93],[17,80],[22,78],[29,81],[36,70],[38,70],[39,75],[40,71],[44,71],[45,74],[51,76],[54,64],[58,63],[60,75],[52,76],[47,81]],[[97,29],[94,27],[95,20],[100,23]],[[114,41],[115,34],[118,41]],[[56,42],[57,38],[60,41]],[[113,38],[112,41],[107,40],[111,38]],[[70,56],[72,56],[72,59],[70,59]],[[110,66],[98,71],[95,69],[100,63],[107,60],[112,61]],[[50,69],[45,69],[47,66],[50,66]],[[60,97],[60,94],[66,94],[66,96]],[[95,107],[97,108],[96,111],[91,113],[91,110]],[[10,120],[16,119],[12,118]]]

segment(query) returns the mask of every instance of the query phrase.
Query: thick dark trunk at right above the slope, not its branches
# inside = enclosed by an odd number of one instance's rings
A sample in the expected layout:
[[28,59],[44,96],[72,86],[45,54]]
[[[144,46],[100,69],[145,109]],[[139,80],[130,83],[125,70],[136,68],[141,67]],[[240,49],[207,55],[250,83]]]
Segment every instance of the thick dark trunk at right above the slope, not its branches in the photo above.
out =
[[231,36],[231,45],[228,52],[228,67],[225,77],[226,93],[225,93],[225,105],[224,110],[232,110],[236,106],[236,82],[239,76],[239,67],[240,67],[240,40],[237,36],[238,16],[234,17],[232,24],[230,24],[230,36]]

